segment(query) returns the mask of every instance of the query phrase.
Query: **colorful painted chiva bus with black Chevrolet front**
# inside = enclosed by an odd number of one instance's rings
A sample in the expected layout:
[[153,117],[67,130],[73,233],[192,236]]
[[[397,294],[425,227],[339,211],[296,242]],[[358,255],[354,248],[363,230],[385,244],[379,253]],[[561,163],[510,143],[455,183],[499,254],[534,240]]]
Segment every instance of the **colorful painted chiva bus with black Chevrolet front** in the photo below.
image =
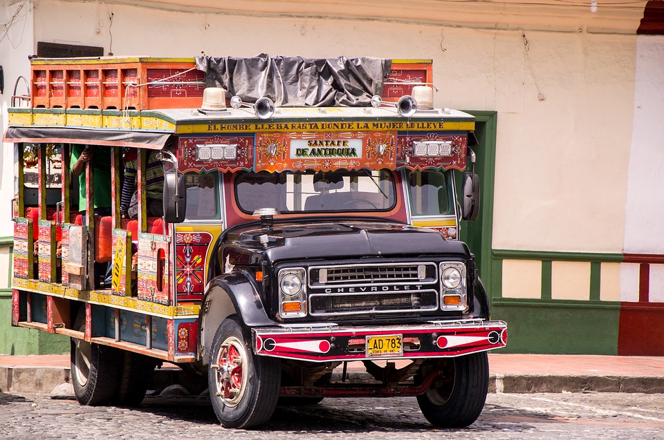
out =
[[[303,76],[261,86],[279,69]],[[84,405],[137,405],[169,361],[201,374],[227,427],[335,396],[417,396],[436,426],[473,423],[486,352],[507,330],[457,240],[479,207],[463,173],[474,118],[433,107],[431,72],[364,58],[33,60],[30,106],[10,108],[4,135],[12,325],[71,337]],[[86,148],[97,153],[77,176]],[[345,380],[350,362],[375,380]]]

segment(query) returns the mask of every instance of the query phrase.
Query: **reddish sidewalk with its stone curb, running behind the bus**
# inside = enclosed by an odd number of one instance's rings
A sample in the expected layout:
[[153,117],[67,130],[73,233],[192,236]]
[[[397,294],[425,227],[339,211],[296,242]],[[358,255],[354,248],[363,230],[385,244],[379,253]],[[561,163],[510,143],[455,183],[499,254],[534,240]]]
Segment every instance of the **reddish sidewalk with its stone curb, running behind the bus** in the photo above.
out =
[[[173,368],[165,364],[158,374]],[[349,364],[353,376],[362,380]],[[1,392],[71,395],[70,377],[68,354],[0,356]],[[489,391],[664,393],[664,356],[490,353]]]

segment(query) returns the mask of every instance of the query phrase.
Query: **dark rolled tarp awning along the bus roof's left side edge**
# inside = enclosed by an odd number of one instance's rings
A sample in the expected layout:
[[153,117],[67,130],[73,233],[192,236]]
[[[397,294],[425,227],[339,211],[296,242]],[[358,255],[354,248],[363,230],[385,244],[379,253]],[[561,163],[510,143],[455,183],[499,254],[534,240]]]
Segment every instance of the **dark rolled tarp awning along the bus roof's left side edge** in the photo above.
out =
[[171,133],[146,131],[91,130],[69,127],[9,127],[3,142],[53,142],[134,146],[153,150],[163,148]]

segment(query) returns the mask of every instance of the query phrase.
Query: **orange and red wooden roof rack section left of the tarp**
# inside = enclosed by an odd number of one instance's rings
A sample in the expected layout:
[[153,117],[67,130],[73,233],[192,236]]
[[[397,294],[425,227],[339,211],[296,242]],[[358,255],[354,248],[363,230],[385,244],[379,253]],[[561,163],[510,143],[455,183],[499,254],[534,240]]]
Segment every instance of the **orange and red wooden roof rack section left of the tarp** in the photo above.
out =
[[192,58],[39,58],[31,79],[33,108],[140,111],[203,101],[203,72]]

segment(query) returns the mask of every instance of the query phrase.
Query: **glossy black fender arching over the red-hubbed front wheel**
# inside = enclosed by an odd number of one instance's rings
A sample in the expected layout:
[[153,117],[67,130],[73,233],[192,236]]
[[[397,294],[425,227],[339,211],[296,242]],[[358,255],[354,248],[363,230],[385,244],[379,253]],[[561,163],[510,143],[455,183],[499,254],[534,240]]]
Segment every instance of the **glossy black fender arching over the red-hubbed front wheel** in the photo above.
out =
[[[276,325],[268,318],[259,285],[247,272],[234,271],[213,278],[205,291],[199,312],[199,358],[209,363],[210,346],[216,329],[228,316],[236,315],[245,341],[251,341],[251,327]],[[250,344],[248,344],[249,348]]]

